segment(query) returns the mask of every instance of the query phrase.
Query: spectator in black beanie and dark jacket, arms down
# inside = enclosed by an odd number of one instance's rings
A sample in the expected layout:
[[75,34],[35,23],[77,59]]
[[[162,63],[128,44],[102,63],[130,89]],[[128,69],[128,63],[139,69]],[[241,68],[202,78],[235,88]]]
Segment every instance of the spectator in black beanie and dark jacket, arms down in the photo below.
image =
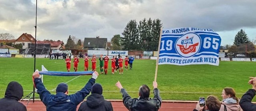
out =
[[78,111],[113,111],[111,102],[104,100],[102,90],[99,83],[94,84],[92,94],[80,105]]

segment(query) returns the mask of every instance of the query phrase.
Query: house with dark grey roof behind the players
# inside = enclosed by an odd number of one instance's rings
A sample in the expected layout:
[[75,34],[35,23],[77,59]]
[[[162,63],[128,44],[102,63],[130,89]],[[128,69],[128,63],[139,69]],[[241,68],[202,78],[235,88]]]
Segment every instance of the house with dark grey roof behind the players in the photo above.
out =
[[107,38],[84,38],[84,48],[88,50],[106,50],[107,49]]

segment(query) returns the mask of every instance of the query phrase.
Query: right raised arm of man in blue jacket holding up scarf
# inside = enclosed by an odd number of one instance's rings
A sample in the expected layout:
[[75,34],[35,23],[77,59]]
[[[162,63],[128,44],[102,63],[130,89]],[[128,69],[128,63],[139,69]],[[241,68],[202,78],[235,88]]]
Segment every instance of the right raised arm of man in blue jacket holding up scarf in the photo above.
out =
[[86,83],[86,85],[78,92],[76,92],[75,94],[70,95],[70,98],[74,99],[76,101],[76,105],[78,105],[79,103],[81,103],[84,98],[89,95],[89,93],[92,90],[92,85],[94,85],[95,80],[98,77],[98,72],[94,71],[94,73],[92,74],[92,78],[89,79],[88,83]]

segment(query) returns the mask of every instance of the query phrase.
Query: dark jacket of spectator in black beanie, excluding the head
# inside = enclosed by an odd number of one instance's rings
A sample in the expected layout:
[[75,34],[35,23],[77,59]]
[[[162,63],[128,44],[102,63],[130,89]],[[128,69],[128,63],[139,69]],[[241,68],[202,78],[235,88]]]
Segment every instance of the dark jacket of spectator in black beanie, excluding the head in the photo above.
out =
[[104,100],[102,95],[92,93],[80,105],[78,111],[113,111],[113,107],[111,102]]

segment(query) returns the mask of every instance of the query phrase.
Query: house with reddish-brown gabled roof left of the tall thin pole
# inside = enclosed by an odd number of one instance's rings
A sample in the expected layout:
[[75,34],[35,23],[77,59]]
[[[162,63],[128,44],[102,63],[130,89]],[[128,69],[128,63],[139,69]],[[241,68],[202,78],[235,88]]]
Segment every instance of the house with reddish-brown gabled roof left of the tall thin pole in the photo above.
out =
[[22,49],[28,48],[28,43],[35,43],[35,38],[27,33],[23,33],[18,39],[16,39],[15,44],[22,44]]

